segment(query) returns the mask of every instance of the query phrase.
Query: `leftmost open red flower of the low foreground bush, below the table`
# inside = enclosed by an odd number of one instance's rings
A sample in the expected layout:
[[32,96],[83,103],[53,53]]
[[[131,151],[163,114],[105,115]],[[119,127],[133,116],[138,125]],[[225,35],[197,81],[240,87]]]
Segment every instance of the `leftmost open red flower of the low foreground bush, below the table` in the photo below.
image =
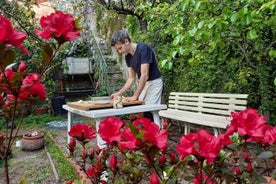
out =
[[86,124],[76,124],[74,125],[71,130],[68,132],[68,135],[71,137],[76,138],[78,141],[85,141],[86,139],[95,139],[96,138],[96,131],[93,130],[92,126]]

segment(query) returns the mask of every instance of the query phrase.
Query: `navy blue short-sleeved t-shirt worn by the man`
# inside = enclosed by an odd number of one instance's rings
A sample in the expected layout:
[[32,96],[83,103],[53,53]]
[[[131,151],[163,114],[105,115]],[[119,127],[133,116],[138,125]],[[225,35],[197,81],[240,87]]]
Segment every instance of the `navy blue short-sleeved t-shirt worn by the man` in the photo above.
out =
[[161,72],[158,69],[155,54],[147,44],[138,42],[134,55],[128,54],[125,56],[126,64],[131,67],[138,76],[141,77],[141,64],[149,63],[149,78],[148,81],[158,79],[161,77]]

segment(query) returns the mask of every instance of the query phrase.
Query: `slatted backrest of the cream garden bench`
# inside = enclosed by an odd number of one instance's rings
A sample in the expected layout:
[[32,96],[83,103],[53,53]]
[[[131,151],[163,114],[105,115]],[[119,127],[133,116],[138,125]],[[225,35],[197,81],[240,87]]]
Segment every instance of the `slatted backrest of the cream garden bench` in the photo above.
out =
[[248,94],[171,92],[169,108],[203,114],[230,116],[247,107]]

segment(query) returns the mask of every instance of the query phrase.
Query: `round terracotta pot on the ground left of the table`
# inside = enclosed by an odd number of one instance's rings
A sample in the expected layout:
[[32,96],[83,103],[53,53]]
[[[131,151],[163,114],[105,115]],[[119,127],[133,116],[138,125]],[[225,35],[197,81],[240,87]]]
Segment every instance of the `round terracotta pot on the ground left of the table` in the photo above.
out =
[[26,151],[35,151],[44,147],[44,134],[37,132],[37,135],[24,134],[22,137],[22,149]]

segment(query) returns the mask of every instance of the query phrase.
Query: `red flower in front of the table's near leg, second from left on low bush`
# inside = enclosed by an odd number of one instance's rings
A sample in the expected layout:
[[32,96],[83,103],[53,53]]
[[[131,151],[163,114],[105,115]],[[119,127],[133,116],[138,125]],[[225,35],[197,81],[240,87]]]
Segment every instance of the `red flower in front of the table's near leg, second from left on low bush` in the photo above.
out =
[[98,132],[108,144],[112,144],[113,141],[119,142],[121,139],[120,129],[123,124],[119,118],[107,117],[100,122]]

